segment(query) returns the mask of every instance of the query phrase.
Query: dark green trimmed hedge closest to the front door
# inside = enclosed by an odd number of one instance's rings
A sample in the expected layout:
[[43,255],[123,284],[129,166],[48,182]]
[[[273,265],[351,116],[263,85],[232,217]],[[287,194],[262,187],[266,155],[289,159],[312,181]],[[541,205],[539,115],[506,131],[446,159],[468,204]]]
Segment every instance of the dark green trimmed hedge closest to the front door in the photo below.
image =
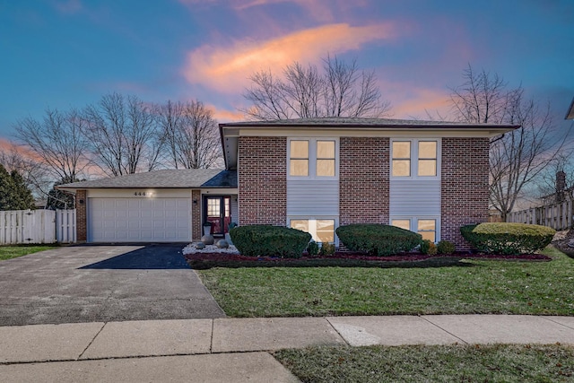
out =
[[311,235],[280,226],[250,225],[230,230],[231,240],[242,256],[299,258]]

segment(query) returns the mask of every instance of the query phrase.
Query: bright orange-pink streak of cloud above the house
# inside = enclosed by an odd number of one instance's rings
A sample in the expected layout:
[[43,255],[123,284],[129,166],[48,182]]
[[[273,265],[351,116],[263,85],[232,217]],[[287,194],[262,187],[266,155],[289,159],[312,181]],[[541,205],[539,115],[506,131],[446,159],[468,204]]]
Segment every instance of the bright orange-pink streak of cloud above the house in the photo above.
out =
[[361,27],[329,24],[300,30],[277,39],[235,41],[230,47],[204,45],[187,54],[183,74],[189,83],[202,84],[225,93],[237,93],[248,85],[248,77],[259,70],[281,74],[293,61],[317,63],[331,55],[357,50],[372,41],[392,39],[391,23]]

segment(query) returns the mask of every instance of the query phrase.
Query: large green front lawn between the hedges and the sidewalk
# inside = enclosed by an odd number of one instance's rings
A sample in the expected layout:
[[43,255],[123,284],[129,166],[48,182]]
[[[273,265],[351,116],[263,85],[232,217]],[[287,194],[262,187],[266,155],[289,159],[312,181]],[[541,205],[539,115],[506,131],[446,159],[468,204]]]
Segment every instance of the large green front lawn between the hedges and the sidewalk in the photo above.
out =
[[574,315],[574,259],[462,260],[408,267],[198,270],[230,317],[396,314]]

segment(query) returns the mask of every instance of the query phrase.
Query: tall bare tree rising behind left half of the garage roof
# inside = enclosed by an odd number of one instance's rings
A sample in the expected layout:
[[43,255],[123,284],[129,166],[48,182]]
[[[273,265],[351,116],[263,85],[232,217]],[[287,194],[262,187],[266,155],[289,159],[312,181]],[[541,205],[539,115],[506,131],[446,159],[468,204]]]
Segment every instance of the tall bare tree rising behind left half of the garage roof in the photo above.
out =
[[111,93],[86,107],[83,117],[93,161],[105,173],[121,176],[157,165],[161,151],[157,125],[152,109],[142,100]]

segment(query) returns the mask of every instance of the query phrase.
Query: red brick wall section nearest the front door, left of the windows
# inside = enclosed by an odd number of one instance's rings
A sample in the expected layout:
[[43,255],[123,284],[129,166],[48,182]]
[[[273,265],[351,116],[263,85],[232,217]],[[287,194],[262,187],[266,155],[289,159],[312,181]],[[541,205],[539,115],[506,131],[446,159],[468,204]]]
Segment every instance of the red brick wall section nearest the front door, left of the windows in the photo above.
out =
[[287,138],[239,137],[239,222],[287,224]]

